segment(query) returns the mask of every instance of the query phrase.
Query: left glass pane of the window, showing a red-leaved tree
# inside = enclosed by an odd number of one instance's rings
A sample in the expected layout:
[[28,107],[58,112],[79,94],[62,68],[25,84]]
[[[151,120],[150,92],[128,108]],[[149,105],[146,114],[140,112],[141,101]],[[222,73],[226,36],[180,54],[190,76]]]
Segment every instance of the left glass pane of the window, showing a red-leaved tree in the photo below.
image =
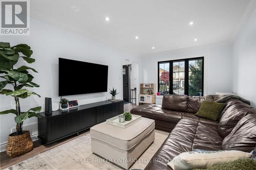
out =
[[170,63],[159,64],[159,92],[161,95],[169,94],[170,85]]

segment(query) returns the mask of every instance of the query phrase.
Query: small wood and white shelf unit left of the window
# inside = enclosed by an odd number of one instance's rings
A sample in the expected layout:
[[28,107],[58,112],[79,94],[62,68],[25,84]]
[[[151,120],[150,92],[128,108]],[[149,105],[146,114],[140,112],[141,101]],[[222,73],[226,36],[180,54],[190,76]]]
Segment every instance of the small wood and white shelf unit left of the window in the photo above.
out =
[[[152,93],[148,93],[151,90]],[[156,84],[143,83],[140,84],[139,104],[155,104],[156,103]]]

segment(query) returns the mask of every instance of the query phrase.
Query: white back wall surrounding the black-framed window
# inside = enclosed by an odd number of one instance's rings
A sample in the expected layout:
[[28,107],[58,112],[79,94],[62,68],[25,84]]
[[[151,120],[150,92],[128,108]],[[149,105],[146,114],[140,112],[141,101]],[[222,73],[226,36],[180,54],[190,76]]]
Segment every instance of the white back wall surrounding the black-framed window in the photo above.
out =
[[156,83],[157,62],[204,57],[204,94],[230,92],[232,82],[231,45],[218,43],[144,55],[140,61],[140,83]]

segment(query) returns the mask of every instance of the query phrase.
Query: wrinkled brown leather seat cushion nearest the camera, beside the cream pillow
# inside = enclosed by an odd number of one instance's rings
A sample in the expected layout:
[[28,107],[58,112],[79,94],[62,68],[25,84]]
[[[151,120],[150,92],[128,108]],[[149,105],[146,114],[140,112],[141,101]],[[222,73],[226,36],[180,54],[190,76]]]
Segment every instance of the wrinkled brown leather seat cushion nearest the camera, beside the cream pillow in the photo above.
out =
[[222,147],[216,122],[182,118],[145,169],[171,169],[167,162],[182,152],[192,150],[218,151]]

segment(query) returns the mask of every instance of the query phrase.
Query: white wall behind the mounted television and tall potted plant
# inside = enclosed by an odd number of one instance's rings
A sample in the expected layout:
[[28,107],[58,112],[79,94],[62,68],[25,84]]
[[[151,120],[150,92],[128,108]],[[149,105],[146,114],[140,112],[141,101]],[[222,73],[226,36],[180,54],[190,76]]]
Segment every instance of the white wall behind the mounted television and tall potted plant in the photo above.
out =
[[[136,61],[138,58],[113,48],[109,45],[96,42],[78,34],[48,25],[45,22],[31,18],[30,36],[1,36],[0,41],[10,42],[11,45],[27,43],[33,50],[32,57],[36,62],[30,64],[39,73],[34,75],[34,82],[39,88],[33,90],[41,95],[30,96],[20,101],[22,111],[36,106],[43,106],[45,97],[53,102],[59,102],[58,97],[58,57],[86,62],[109,65],[108,87],[115,87],[122,91],[122,64],[124,59]],[[20,64],[27,64],[20,62]],[[67,81],[69,81],[67,79]],[[81,83],[89,83],[86,75],[81,77]],[[66,96],[69,100],[78,99],[79,104],[104,101],[111,98],[108,92]],[[117,96],[122,99],[122,93]],[[0,95],[0,110],[15,108],[14,99]],[[0,115],[1,139],[3,145],[8,140],[11,128],[15,127],[14,115]],[[36,118],[25,120],[24,125],[36,123]]]

